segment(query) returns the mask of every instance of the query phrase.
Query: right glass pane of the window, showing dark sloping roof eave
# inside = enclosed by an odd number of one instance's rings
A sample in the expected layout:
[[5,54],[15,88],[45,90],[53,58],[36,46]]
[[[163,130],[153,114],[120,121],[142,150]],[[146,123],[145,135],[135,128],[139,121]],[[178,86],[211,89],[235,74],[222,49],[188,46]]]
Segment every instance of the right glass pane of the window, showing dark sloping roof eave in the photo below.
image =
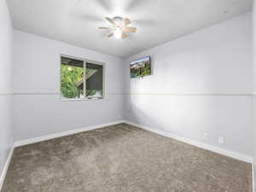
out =
[[103,66],[86,63],[86,96],[88,98],[102,97]]

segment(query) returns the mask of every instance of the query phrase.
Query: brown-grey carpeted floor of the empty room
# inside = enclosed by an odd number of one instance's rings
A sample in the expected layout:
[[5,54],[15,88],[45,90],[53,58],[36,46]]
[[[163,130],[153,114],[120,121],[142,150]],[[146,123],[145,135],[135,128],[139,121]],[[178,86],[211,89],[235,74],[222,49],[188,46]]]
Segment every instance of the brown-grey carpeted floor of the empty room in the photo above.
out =
[[2,192],[252,192],[251,165],[131,125],[15,148]]

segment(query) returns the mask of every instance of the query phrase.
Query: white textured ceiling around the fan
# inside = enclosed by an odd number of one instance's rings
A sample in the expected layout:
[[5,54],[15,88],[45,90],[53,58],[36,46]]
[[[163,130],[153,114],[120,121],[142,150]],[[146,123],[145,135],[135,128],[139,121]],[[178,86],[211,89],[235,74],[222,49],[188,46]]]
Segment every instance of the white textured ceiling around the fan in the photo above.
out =
[[[127,57],[252,9],[252,0],[7,0],[15,29]],[[104,17],[129,17],[137,33],[107,38]]]

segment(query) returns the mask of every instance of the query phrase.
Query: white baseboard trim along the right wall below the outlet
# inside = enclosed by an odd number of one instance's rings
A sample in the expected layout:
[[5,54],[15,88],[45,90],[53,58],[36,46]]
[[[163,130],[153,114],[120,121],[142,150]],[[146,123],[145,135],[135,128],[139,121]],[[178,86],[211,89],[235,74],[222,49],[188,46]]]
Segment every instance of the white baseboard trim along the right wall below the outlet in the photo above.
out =
[[241,153],[231,151],[231,150],[228,150],[228,149],[218,148],[216,146],[212,146],[211,144],[197,142],[193,139],[189,139],[189,138],[185,138],[185,137],[178,137],[176,135],[173,135],[172,133],[169,133],[169,132],[166,132],[166,131],[160,131],[160,130],[157,130],[157,129],[154,129],[152,127],[148,127],[148,126],[145,126],[145,125],[139,125],[139,124],[131,122],[131,121],[126,121],[125,120],[125,123],[128,124],[128,125],[137,126],[137,127],[141,128],[143,130],[154,132],[154,133],[159,134],[159,135],[164,136],[164,137],[170,137],[170,138],[175,139],[177,141],[180,141],[180,142],[183,142],[183,143],[188,143],[190,145],[194,145],[195,147],[198,147],[198,148],[204,148],[204,149],[207,149],[209,151],[212,151],[212,152],[215,152],[215,153],[218,153],[218,154],[223,154],[225,156],[232,157],[236,160],[245,161],[247,163],[253,163],[253,157],[251,157],[247,154],[241,154]]

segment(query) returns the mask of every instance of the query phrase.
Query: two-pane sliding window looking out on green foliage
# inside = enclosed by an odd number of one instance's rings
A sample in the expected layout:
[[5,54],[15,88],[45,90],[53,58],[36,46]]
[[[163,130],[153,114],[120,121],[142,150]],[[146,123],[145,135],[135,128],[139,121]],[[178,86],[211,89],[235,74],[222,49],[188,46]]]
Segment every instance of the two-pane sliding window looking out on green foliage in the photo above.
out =
[[61,98],[103,98],[103,67],[101,62],[61,56]]

